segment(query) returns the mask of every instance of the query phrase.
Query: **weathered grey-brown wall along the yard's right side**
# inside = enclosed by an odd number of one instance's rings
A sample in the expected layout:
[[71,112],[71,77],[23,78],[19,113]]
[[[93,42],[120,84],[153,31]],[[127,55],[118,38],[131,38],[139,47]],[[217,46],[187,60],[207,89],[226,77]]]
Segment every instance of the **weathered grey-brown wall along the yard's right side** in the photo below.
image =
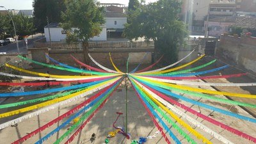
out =
[[256,73],[256,38],[221,35],[216,57],[231,65]]

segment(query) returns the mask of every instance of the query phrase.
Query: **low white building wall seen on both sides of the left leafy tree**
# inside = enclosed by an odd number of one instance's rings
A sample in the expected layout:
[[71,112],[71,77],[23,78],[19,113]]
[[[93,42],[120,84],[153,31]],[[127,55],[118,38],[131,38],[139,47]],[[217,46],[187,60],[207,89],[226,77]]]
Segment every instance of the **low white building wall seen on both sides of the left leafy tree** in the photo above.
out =
[[[66,34],[62,34],[63,28],[50,28],[51,42],[60,42],[65,40]],[[44,28],[46,42],[50,42],[48,28]],[[107,29],[105,26],[102,27],[102,31],[99,36],[94,36],[90,40],[92,41],[106,41],[107,40]]]

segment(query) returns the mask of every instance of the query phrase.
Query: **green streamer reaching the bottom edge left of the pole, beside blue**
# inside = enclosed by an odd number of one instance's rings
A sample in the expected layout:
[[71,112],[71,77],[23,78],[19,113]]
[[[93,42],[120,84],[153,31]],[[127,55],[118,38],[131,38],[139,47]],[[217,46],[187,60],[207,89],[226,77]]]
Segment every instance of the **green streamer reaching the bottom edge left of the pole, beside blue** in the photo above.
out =
[[[120,83],[120,82],[119,82]],[[116,85],[118,86],[118,84]],[[72,125],[72,127],[70,127],[70,129],[68,129],[67,132],[65,132],[60,138],[58,138],[58,140],[56,140],[54,142],[54,144],[56,143],[61,143],[61,141],[63,141],[72,131],[74,131],[88,116],[92,115],[92,113],[100,106],[100,104],[102,104],[102,102],[107,99],[107,97],[109,96],[109,94],[111,92],[113,92],[113,90],[115,89],[115,87],[111,88],[111,90],[109,90],[108,93],[106,93],[106,95],[104,97],[102,97],[102,99],[99,100],[99,102],[97,102],[97,104],[95,104],[90,111],[88,111],[82,118],[79,119],[79,121]]]

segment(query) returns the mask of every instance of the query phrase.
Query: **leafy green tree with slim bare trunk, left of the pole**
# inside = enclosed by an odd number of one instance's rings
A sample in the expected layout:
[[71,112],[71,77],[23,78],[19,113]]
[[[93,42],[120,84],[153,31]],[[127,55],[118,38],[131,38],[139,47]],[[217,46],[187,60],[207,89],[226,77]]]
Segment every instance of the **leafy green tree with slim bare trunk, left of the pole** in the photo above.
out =
[[85,61],[88,63],[88,40],[102,31],[104,8],[94,0],[67,0],[67,10],[62,13],[61,26],[68,31],[67,42],[83,42]]

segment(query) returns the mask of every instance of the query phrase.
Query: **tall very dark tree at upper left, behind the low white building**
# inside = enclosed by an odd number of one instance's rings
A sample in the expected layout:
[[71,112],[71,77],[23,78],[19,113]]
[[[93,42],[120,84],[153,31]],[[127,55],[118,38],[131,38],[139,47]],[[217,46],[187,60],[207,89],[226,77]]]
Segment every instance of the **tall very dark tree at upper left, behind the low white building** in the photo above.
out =
[[47,26],[46,17],[49,22],[61,22],[61,12],[65,12],[65,0],[34,0],[34,23],[37,32],[44,32]]

